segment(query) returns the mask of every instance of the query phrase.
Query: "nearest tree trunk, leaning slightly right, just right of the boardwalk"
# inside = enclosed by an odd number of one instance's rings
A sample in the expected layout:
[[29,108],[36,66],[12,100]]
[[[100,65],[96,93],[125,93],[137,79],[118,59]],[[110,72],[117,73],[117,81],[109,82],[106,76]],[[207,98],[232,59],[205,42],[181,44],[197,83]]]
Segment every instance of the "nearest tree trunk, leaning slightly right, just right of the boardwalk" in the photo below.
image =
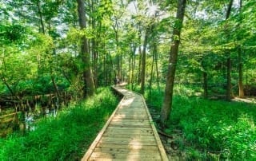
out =
[[178,10],[176,14],[176,23],[178,27],[174,28],[174,31],[173,31],[173,45],[171,45],[170,47],[169,65],[168,65],[168,71],[166,75],[165,96],[164,96],[161,116],[160,116],[160,123],[163,128],[165,127],[166,121],[169,119],[171,106],[172,106],[174,77],[175,77],[177,58],[178,58],[178,45],[180,43],[180,35],[182,30],[182,22],[185,14],[185,8],[186,8],[186,0],[179,0]]

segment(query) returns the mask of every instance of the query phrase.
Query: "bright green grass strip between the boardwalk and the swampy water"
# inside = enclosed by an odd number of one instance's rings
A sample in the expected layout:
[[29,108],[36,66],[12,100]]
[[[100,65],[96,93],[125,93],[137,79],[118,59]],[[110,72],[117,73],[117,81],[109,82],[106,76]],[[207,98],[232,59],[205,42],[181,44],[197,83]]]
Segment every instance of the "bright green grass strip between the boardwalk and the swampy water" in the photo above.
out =
[[40,120],[33,132],[0,139],[0,160],[80,160],[117,106],[110,88]]

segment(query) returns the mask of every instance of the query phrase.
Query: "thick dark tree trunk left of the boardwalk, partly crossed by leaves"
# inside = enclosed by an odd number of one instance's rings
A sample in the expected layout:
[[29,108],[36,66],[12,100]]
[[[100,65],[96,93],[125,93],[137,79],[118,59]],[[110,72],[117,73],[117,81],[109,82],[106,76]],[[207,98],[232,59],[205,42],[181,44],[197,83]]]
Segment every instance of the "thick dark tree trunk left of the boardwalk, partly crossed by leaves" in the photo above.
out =
[[[86,28],[86,9],[83,0],[77,0],[78,2],[78,17],[79,25],[81,29]],[[90,68],[90,53],[88,48],[88,41],[86,37],[82,37],[81,44],[81,57],[84,63],[83,79],[85,82],[84,96],[94,95],[94,79]]]

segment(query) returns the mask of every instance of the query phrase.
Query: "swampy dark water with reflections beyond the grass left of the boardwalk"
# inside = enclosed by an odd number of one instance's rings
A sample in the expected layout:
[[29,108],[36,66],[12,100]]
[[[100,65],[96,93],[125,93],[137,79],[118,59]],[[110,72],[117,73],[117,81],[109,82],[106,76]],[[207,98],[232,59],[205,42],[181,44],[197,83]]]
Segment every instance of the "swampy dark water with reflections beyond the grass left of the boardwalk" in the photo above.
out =
[[17,108],[16,110],[15,108],[4,108],[0,112],[0,137],[18,130],[22,133],[34,131],[36,128],[35,123],[38,120],[46,117],[56,117],[59,110],[67,105],[68,103],[62,102],[60,104],[56,100],[44,107],[40,103],[30,104],[20,112],[16,111]]

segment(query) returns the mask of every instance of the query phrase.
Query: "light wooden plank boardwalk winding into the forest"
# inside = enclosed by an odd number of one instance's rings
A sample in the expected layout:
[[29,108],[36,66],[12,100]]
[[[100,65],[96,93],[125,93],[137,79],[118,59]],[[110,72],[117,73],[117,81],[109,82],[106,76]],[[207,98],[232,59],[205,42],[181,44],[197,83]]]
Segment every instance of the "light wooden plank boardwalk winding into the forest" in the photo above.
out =
[[114,89],[123,98],[82,160],[168,160],[143,96]]

